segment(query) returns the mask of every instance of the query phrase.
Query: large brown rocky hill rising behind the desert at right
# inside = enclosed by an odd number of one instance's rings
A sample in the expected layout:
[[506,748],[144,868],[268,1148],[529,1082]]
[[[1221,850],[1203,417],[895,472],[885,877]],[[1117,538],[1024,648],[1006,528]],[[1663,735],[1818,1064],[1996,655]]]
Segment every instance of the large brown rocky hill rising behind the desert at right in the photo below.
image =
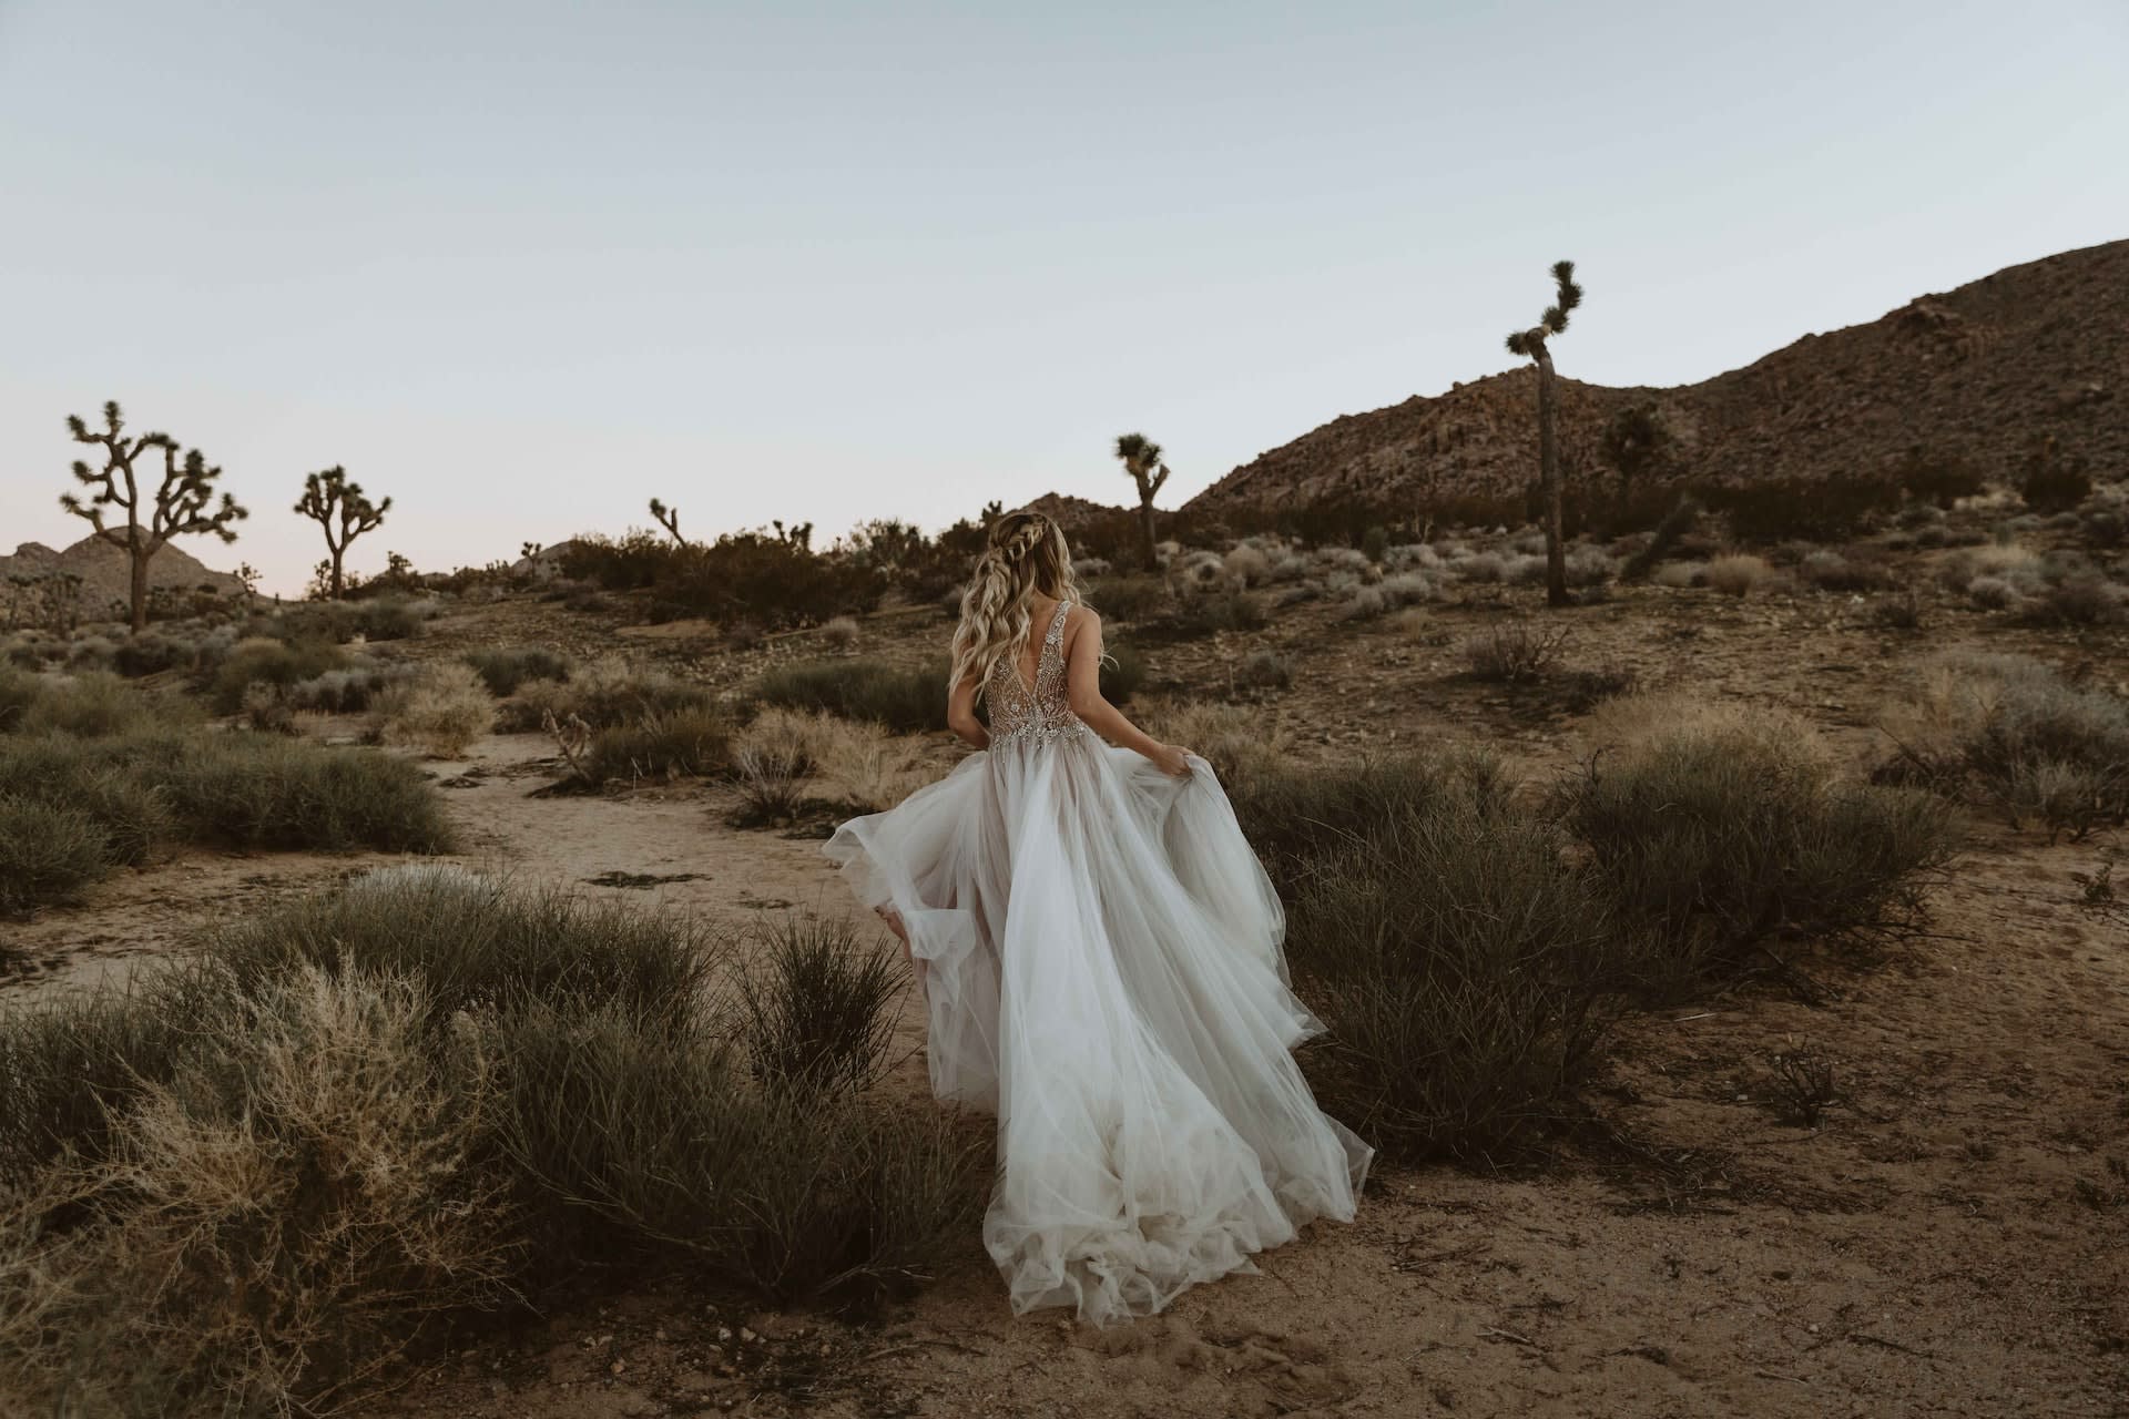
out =
[[[1556,355],[1573,368],[1571,336]],[[1678,438],[1676,472],[1710,481],[1837,479],[1920,447],[2001,474],[2054,434],[2101,474],[2129,470],[2129,240],[2010,266],[1918,296],[1867,325],[1808,334],[1742,370],[1671,389],[1561,381],[1569,481],[1607,472],[1605,421],[1650,402]],[[1343,415],[1235,468],[1192,513],[1324,502],[1424,506],[1516,496],[1537,477],[1529,364]]]

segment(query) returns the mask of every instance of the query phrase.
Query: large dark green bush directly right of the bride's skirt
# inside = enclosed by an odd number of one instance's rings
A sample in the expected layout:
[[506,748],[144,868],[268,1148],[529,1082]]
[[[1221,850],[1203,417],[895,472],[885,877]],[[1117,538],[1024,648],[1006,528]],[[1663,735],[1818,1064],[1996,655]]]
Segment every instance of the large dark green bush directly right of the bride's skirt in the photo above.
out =
[[1297,989],[1328,1028],[1303,1059],[1331,1113],[1403,1157],[1486,1164],[1578,1113],[1620,947],[1495,764],[1288,770],[1237,806],[1280,864]]

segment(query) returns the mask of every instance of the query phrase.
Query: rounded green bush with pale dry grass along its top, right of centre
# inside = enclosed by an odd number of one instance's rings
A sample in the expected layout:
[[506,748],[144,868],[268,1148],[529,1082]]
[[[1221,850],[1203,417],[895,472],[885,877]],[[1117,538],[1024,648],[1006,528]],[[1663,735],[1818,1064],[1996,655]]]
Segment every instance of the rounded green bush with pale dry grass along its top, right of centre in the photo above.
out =
[[1680,979],[1899,930],[1957,847],[1937,800],[1846,781],[1810,725],[1771,706],[1656,696],[1601,719],[1612,742],[1561,785],[1558,815]]

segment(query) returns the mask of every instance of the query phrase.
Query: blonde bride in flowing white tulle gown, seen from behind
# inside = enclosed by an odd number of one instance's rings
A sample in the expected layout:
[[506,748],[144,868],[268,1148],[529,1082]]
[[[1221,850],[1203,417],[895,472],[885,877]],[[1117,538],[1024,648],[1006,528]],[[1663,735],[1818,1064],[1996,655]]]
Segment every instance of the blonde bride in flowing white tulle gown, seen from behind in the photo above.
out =
[[1211,766],[1111,706],[1101,660],[1062,530],[1001,517],[947,700],[979,753],[824,851],[915,962],[933,1091],[999,1117],[1013,1313],[1109,1323],[1352,1221],[1373,1149],[1292,1059],[1322,1023]]

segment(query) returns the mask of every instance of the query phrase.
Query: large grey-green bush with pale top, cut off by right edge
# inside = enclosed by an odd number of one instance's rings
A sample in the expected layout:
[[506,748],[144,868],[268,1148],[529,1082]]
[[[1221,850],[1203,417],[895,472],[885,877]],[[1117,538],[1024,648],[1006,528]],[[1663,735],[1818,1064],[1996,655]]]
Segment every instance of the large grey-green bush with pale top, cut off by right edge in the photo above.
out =
[[2012,825],[2084,836],[2129,821],[2129,702],[2025,655],[1925,662],[1880,728],[1878,777],[1997,806]]

